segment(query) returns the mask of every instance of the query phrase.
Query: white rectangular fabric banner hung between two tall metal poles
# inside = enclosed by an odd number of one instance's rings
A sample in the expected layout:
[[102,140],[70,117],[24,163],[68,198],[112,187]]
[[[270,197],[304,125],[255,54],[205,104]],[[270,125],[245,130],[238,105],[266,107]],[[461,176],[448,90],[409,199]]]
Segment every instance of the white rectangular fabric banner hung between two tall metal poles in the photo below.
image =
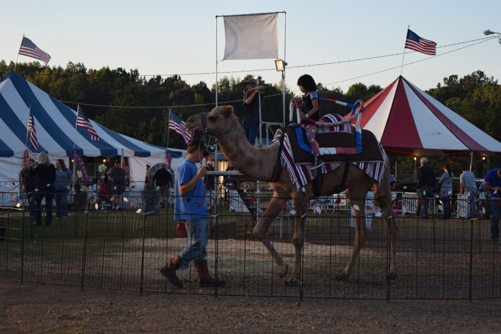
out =
[[277,59],[278,14],[224,17],[224,60]]

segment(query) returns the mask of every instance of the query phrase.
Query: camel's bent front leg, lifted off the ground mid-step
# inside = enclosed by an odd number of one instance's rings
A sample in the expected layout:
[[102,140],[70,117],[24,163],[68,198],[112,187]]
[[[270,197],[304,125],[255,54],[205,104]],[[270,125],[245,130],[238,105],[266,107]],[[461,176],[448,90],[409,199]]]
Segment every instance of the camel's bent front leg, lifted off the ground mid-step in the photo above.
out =
[[273,247],[272,243],[270,242],[270,239],[268,237],[268,231],[270,229],[270,225],[272,224],[274,218],[276,215],[280,213],[282,208],[280,207],[280,204],[286,203],[286,199],[278,199],[276,197],[273,197],[270,201],[270,204],[266,208],[265,211],[265,216],[260,219],[259,223],[254,227],[253,234],[254,236],[263,242],[265,247],[270,251],[272,254],[273,259],[277,263],[278,269],[279,269],[279,275],[280,277],[284,277],[287,274],[287,270],[289,269],[289,265],[287,262],[284,262],[284,259],[282,256],[280,256],[279,252]]

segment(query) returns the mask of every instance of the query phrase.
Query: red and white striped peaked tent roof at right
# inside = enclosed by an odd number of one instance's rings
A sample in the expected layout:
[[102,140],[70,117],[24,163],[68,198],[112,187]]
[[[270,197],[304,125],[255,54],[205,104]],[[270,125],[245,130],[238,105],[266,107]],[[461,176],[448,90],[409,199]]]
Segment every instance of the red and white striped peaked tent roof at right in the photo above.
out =
[[372,131],[388,154],[501,154],[501,143],[402,76],[365,102],[364,108],[360,126]]

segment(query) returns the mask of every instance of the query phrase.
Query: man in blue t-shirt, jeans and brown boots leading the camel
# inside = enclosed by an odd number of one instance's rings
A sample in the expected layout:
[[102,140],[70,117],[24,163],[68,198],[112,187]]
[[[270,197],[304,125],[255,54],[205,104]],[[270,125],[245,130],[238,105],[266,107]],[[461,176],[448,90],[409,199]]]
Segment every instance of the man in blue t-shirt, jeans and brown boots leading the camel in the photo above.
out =
[[187,268],[190,261],[195,264],[198,273],[198,286],[221,286],[224,280],[215,280],[210,277],[207,266],[207,239],[209,224],[207,217],[209,209],[205,204],[205,189],[202,177],[207,174],[205,166],[198,169],[195,163],[201,162],[209,154],[198,140],[188,143],[186,160],[179,165],[175,181],[174,220],[186,222],[186,231],[190,245],[184,248],[165,264],[160,272],[169,282],[177,287],[183,283],[176,275],[176,270]]

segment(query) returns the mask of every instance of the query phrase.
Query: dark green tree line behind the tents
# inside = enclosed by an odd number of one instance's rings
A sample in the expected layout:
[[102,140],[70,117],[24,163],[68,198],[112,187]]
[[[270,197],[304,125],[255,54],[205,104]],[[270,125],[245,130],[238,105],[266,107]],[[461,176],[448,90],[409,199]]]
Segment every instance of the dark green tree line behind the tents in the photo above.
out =
[[[3,78],[12,72],[14,65],[14,62],[7,64],[0,61],[0,76]],[[180,136],[167,131],[169,107],[181,119],[186,120],[191,115],[209,112],[215,106],[215,84],[208,87],[200,81],[189,85],[178,75],[146,78],[137,69],[87,69],[82,63],[72,62],[66,68],[42,66],[39,62],[18,63],[16,72],[54,98],[67,101],[65,104],[73,109],[80,103],[85,114],[103,126],[159,146],[168,144],[171,148],[185,148]],[[238,117],[243,111],[242,98],[246,90],[242,83],[248,78],[250,75],[218,79],[218,104],[232,105]],[[282,84],[267,83],[260,78],[260,85],[265,86],[266,91],[263,120],[282,122]],[[294,84],[292,86],[295,87]],[[317,86],[321,97],[350,103],[359,99],[367,101],[382,89],[379,85],[356,83],[345,93],[339,87],[328,89],[322,83],[317,83]],[[501,140],[501,90],[493,77],[487,77],[482,71],[475,71],[462,78],[451,75],[444,78],[443,83],[438,83],[435,88],[425,92],[491,137]],[[289,113],[288,101],[292,97],[294,94],[286,87],[286,119]],[[320,115],[345,115],[347,112],[345,107],[324,103]],[[412,159],[400,160],[405,159],[399,159],[403,170],[413,172]],[[441,164],[447,162],[447,158],[442,157],[436,161]],[[457,164],[457,159],[454,162]]]

